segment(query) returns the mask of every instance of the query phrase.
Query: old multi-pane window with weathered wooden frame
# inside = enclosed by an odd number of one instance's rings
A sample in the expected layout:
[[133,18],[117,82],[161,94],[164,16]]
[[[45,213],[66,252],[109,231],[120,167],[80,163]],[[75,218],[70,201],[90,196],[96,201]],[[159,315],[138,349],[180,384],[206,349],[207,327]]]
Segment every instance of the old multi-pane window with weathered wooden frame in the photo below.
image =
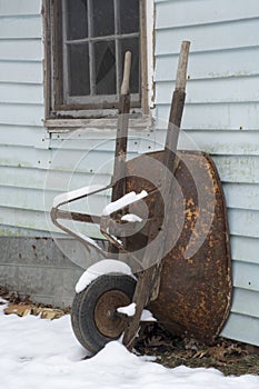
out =
[[[46,0],[49,118],[117,109],[130,50],[131,107],[141,108],[146,69],[145,0]],[[147,113],[147,112],[146,112]]]

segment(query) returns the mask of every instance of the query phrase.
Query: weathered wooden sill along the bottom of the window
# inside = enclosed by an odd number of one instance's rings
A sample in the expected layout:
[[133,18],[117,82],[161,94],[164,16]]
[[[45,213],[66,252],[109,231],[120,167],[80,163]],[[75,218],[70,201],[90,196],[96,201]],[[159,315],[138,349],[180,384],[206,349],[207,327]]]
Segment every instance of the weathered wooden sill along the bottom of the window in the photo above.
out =
[[[92,119],[47,119],[44,121],[44,127],[48,132],[70,132],[77,129],[86,128],[86,131],[94,130],[106,130],[117,128],[117,118],[92,118]],[[141,117],[131,117],[129,119],[129,128],[141,130],[150,129],[152,127],[151,114],[146,114]]]

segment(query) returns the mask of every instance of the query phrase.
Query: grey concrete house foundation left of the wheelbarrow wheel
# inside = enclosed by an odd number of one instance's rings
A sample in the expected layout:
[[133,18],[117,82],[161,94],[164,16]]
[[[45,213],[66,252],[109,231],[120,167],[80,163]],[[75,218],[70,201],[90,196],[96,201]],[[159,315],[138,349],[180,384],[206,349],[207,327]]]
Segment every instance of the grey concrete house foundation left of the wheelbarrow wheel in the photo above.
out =
[[[74,286],[84,269],[58,246],[51,238],[0,237],[0,286],[34,302],[71,306]],[[77,241],[62,239],[63,246],[69,252],[81,250],[81,257],[89,256],[88,266],[92,261],[91,253]]]

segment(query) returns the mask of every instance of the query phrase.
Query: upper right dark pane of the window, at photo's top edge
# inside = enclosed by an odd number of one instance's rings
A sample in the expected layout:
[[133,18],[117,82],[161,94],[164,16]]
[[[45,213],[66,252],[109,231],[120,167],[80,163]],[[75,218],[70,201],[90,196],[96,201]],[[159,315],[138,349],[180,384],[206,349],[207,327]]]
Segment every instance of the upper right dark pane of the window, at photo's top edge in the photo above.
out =
[[120,0],[120,33],[139,31],[139,0]]

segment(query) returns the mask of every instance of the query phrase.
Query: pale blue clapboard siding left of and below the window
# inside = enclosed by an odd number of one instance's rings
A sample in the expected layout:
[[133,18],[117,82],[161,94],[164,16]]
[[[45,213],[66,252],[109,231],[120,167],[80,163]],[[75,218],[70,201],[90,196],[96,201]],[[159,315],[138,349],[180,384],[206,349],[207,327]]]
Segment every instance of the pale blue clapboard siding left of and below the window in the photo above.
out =
[[[2,236],[57,231],[48,218],[53,197],[96,182],[97,176],[98,182],[108,183],[112,171],[116,129],[50,134],[44,128],[41,9],[41,0],[0,0]],[[141,138],[148,137],[135,130],[131,150],[141,152]],[[104,161],[109,163],[100,172]],[[101,212],[108,201],[109,193],[94,197],[91,211]],[[88,232],[100,237],[94,226]]]

